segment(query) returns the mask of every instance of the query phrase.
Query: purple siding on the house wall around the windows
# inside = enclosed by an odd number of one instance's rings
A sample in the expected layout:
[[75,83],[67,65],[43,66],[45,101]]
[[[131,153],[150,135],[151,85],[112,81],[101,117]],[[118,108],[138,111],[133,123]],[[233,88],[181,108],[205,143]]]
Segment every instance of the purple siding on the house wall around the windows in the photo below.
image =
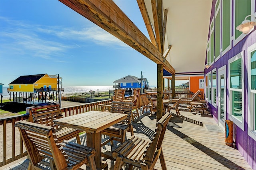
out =
[[[221,3],[221,2],[220,2]],[[212,14],[211,14],[211,20],[214,18],[214,7],[216,4],[216,0],[213,0],[212,2]],[[233,6],[234,2],[232,1],[232,6]],[[256,7],[255,7],[256,8]],[[232,13],[233,13],[233,9],[232,9]],[[233,14],[232,14],[233,16]],[[232,17],[233,18],[233,17]],[[233,20],[232,20],[233,23]],[[210,29],[209,29],[210,32]],[[234,34],[233,30],[232,30],[232,35]],[[210,33],[208,38],[210,37]],[[249,46],[251,46],[252,44],[256,43],[256,29],[254,29],[253,32],[251,32],[250,34],[248,34],[246,37],[244,37],[244,39],[242,39],[242,41],[240,41],[239,43],[237,43],[235,46],[233,45],[233,41],[232,41],[232,48],[225,53],[224,55],[221,54],[221,58],[218,59],[218,61],[216,61],[214,64],[212,64],[212,66],[210,66],[210,68],[205,69],[204,72],[205,74],[207,74],[208,72],[210,72],[211,70],[213,70],[214,68],[217,69],[217,74],[218,74],[218,68],[226,65],[226,84],[228,86],[228,82],[229,82],[229,77],[228,77],[228,60],[231,59],[232,57],[234,57],[235,55],[237,55],[238,53],[241,53],[242,51],[244,51],[244,116],[245,116],[245,120],[244,120],[244,131],[242,131],[238,126],[236,126],[234,124],[234,142],[235,142],[235,146],[237,147],[237,149],[239,150],[239,152],[242,154],[242,156],[244,156],[244,158],[246,159],[246,161],[248,162],[248,164],[250,164],[250,166],[256,170],[256,141],[254,139],[252,139],[250,136],[248,136],[248,71],[247,71],[247,48]],[[206,60],[207,60],[207,56],[206,56]],[[217,76],[218,77],[218,76]],[[217,78],[218,81],[218,78]],[[218,82],[217,82],[218,84]],[[218,89],[217,89],[218,90]],[[226,117],[228,119],[228,106],[229,106],[229,102],[228,102],[228,87],[226,88]],[[210,113],[213,115],[214,120],[216,122],[218,122],[218,109],[215,108],[214,106],[212,106],[211,104],[209,104],[210,107]]]

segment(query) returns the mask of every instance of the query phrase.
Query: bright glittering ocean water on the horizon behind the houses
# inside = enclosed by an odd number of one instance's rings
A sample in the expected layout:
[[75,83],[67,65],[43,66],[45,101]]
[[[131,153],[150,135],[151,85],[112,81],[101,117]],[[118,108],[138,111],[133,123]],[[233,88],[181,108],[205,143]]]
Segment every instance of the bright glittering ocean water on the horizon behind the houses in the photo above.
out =
[[[9,87],[3,87],[3,99],[8,99],[10,98],[10,95],[7,92],[7,88]],[[63,94],[81,94],[81,93],[88,93],[90,92],[90,90],[95,91],[96,93],[98,92],[97,90],[99,90],[99,92],[108,92],[109,90],[113,90],[113,86],[66,86],[66,87],[62,87],[64,88],[64,92]],[[12,93],[11,93],[11,98],[12,97]]]

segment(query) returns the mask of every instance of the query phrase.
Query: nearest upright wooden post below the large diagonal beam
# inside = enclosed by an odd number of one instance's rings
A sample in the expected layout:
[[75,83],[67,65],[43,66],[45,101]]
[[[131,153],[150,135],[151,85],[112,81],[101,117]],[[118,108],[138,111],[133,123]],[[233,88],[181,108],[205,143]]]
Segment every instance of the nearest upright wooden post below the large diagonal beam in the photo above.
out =
[[163,112],[163,74],[163,64],[157,64],[156,121],[162,118]]

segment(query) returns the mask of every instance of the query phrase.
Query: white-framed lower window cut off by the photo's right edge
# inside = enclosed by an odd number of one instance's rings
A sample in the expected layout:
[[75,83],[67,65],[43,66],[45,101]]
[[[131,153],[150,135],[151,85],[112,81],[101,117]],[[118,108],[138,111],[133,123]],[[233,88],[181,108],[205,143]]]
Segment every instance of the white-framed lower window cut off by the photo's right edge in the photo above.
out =
[[256,140],[256,43],[248,47],[248,135]]

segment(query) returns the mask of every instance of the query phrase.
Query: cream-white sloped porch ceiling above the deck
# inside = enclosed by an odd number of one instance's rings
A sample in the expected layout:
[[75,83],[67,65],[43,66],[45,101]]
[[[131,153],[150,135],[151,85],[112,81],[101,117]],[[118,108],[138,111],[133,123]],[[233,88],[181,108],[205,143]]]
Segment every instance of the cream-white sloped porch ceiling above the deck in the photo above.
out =
[[[151,1],[145,4],[154,24]],[[211,6],[212,0],[163,0],[163,10],[168,9],[164,51],[172,45],[166,60],[176,73],[204,71]]]

